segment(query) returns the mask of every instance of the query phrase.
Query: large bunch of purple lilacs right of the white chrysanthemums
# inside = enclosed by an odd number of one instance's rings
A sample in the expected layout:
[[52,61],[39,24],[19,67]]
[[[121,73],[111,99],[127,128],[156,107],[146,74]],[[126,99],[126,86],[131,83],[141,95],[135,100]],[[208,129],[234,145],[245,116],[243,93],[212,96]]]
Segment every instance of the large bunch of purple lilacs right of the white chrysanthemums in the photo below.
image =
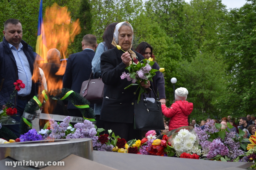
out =
[[[228,128],[233,126],[227,123]],[[240,149],[246,148],[245,144],[241,144],[244,132],[239,129],[239,138],[236,138],[235,132],[229,132],[228,129],[221,129],[220,123],[214,120],[205,124],[204,130],[196,127],[195,131],[200,139],[199,144],[202,147],[203,156],[210,160],[231,161],[244,152]]]

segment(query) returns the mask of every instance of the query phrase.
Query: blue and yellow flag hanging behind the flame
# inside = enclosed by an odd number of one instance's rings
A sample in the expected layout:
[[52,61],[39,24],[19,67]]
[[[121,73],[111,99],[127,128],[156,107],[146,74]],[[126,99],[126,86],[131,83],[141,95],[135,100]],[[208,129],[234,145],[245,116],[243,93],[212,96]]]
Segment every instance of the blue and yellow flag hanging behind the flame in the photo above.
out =
[[36,40],[36,53],[44,58],[44,63],[47,63],[47,45],[46,37],[44,33],[44,21],[43,21],[43,0],[40,2],[38,26],[37,26],[37,40]]

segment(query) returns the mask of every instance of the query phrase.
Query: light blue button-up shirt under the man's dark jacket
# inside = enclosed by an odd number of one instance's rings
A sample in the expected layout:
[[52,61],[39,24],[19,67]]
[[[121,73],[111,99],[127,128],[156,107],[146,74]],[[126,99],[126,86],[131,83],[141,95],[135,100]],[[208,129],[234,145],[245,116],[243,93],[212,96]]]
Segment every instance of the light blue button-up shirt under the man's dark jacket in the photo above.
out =
[[[18,50],[10,43],[9,47],[14,55],[16,65],[18,68],[19,79],[25,84],[25,88],[18,92],[19,96],[27,96],[31,92],[32,87],[32,73],[28,63],[28,58],[23,52],[23,45],[20,43]],[[14,82],[13,82],[14,83]]]

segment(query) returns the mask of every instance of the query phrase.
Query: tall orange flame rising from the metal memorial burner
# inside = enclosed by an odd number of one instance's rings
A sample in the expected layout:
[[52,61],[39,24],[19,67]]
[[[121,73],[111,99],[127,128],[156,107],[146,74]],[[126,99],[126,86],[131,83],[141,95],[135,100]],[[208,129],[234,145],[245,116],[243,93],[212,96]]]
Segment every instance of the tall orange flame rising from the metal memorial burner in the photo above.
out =
[[[70,12],[68,12],[68,7],[60,7],[56,3],[54,3],[51,7],[46,7],[44,17],[44,30],[48,50],[57,48],[60,51],[60,55],[64,59],[67,55],[68,45],[74,42],[75,36],[77,34],[81,33],[79,19],[72,21]],[[47,62],[46,58],[44,58],[44,62]],[[60,69],[56,75],[64,75],[65,70],[66,60],[61,63]],[[62,88],[62,80],[57,80],[54,77],[46,76],[51,75],[49,74],[49,71],[50,70],[44,70],[44,75],[47,77],[47,90],[51,94],[51,90]],[[35,71],[33,73],[32,79],[34,82],[38,80]],[[43,89],[39,89],[38,94],[40,94],[42,90]],[[42,99],[40,101],[42,101]],[[44,110],[46,113],[52,113],[54,106],[50,106],[48,101],[46,104],[44,104]]]

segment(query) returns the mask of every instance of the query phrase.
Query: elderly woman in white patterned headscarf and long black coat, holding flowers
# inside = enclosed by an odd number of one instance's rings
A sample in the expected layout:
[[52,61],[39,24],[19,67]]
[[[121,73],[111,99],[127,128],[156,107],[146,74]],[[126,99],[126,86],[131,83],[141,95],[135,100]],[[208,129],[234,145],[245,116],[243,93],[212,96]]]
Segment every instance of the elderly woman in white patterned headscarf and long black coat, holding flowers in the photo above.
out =
[[[102,53],[100,57],[100,70],[104,85],[104,98],[100,112],[100,120],[105,121],[105,133],[108,129],[124,138],[126,141],[137,138],[140,134],[133,129],[134,103],[137,86],[124,89],[130,85],[126,79],[120,76],[132,61],[137,62],[144,59],[142,55],[133,51],[133,28],[128,22],[118,23],[115,27],[112,45],[119,45],[126,51],[118,50],[116,47]],[[150,84],[141,82],[144,88]]]

